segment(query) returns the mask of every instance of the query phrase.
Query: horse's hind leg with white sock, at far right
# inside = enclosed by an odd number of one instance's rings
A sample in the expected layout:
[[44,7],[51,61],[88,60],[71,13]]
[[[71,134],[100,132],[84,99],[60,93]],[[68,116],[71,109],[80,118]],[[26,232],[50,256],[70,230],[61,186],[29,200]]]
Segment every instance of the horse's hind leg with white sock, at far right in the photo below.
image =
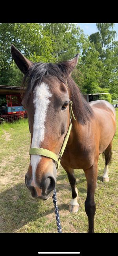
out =
[[103,170],[104,174],[102,176],[102,181],[109,181],[109,168],[108,168],[108,164],[111,163],[111,159],[112,159],[112,142],[109,144],[109,146],[105,149],[105,151],[103,152],[103,154],[105,155],[105,168]]

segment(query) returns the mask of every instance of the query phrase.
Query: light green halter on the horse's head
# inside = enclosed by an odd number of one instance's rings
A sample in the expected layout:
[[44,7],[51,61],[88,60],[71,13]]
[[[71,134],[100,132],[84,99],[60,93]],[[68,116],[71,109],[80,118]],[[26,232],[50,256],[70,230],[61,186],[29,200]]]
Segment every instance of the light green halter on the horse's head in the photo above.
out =
[[65,147],[66,147],[69,135],[70,135],[70,131],[72,129],[72,123],[71,123],[72,116],[73,116],[74,120],[76,120],[75,117],[74,117],[73,111],[72,111],[72,101],[70,101],[70,104],[69,104],[69,112],[70,112],[70,125],[69,125],[68,132],[65,136],[65,140],[63,142],[63,146],[61,148],[61,151],[60,151],[59,155],[56,155],[52,151],[50,151],[48,149],[44,149],[44,148],[30,148],[30,151],[29,151],[29,155],[44,155],[45,157],[52,158],[54,161],[57,162],[57,166],[56,166],[57,170],[59,168],[61,157],[62,157],[63,152],[65,150]]

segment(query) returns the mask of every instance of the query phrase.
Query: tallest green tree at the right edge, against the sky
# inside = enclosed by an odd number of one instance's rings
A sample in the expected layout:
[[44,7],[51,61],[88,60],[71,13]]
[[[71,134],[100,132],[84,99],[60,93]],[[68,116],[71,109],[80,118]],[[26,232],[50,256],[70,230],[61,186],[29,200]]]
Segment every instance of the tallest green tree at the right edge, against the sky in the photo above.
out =
[[[100,90],[108,91],[112,98],[118,97],[117,67],[118,67],[118,44],[115,41],[116,31],[114,23],[96,23],[98,32],[90,35],[90,43],[94,43],[99,52],[99,60],[102,62]],[[117,96],[116,96],[117,95]]]

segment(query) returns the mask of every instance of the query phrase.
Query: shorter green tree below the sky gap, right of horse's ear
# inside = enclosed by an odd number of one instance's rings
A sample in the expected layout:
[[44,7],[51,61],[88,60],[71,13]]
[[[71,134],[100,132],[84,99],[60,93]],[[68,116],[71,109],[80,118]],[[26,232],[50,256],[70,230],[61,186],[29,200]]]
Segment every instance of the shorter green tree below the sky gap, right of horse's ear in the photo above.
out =
[[79,71],[81,76],[81,91],[84,94],[98,93],[101,85],[103,64],[99,60],[99,52],[95,50],[94,43],[86,43],[82,52]]

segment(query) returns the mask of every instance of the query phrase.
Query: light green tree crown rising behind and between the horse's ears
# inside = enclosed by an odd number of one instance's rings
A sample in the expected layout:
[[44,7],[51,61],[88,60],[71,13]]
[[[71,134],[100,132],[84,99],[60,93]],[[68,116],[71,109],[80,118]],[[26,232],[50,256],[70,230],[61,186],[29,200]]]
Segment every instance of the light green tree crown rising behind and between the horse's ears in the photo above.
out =
[[82,49],[85,35],[83,30],[73,23],[43,23],[55,43],[53,56],[56,62],[73,58]]

